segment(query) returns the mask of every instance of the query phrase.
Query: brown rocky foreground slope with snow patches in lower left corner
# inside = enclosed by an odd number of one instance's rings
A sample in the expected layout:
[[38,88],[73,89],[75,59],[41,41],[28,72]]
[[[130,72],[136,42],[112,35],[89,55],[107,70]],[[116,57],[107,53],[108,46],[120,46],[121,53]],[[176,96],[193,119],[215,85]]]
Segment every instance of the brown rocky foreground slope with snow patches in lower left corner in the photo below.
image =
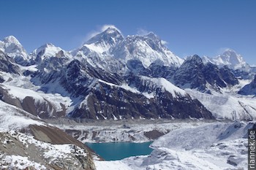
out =
[[0,104],[1,169],[95,169],[83,143],[28,112]]

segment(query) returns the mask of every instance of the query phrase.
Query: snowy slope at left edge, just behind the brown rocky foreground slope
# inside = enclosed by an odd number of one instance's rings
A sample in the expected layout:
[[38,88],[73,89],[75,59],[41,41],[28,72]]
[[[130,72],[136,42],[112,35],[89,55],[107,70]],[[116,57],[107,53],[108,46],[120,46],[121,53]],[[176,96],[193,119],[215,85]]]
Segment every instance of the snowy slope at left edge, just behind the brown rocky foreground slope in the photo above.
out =
[[[21,71],[36,72],[35,66],[22,66]],[[31,82],[31,77],[18,74],[9,74],[0,72],[0,76],[7,80],[0,84],[1,100],[12,104],[20,109],[24,109],[33,115],[48,115],[54,117],[61,113],[64,116],[64,110],[69,107],[72,100],[68,96],[61,96],[59,93],[44,93],[40,86]],[[57,86],[57,85],[56,85]],[[60,87],[59,91],[61,90]],[[59,115],[60,116],[60,115]]]

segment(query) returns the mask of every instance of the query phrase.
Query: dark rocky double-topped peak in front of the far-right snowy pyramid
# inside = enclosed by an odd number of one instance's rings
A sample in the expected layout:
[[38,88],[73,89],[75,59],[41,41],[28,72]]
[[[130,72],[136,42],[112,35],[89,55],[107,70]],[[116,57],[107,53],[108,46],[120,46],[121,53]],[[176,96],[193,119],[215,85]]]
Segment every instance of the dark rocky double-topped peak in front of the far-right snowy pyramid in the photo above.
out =
[[227,85],[236,85],[238,80],[227,66],[219,69],[213,63],[204,64],[198,55],[188,58],[173,76],[176,85],[182,88],[197,88],[202,92],[211,88],[219,91]]

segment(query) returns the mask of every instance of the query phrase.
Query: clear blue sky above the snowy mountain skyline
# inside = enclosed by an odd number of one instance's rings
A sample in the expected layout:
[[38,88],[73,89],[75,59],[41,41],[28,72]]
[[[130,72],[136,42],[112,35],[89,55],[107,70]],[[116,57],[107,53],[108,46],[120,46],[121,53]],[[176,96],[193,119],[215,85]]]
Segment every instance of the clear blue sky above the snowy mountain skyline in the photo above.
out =
[[2,0],[0,39],[14,35],[28,52],[48,42],[72,50],[112,24],[124,36],[153,31],[181,58],[228,47],[256,65],[255,9],[255,0]]

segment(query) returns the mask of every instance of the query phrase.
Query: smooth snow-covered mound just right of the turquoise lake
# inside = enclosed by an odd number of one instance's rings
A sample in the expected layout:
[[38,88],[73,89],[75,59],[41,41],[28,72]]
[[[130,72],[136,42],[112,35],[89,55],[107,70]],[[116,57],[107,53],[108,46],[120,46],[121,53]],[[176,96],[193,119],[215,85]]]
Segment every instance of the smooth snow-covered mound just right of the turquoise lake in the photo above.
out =
[[[165,147],[173,150],[193,150],[211,147],[220,141],[229,141],[246,136],[246,123],[208,123],[195,128],[180,128],[157,139],[153,148]],[[252,127],[252,125],[249,125]]]

